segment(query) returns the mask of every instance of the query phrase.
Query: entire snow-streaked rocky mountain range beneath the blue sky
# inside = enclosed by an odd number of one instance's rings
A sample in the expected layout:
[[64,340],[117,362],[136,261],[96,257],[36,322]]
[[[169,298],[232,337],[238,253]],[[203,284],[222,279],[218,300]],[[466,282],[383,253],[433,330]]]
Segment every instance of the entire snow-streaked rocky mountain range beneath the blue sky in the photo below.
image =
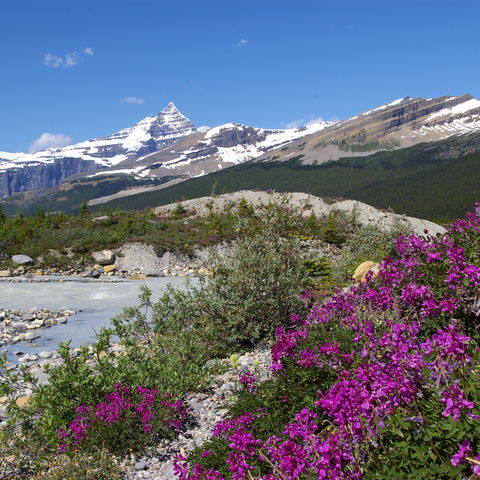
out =
[[405,97],[343,121],[286,130],[228,123],[197,131],[170,102],[158,115],[107,137],[30,155],[0,152],[0,197],[56,188],[69,178],[88,183],[118,175],[158,180],[161,185],[147,189],[163,189],[249,161],[321,164],[478,133],[480,100],[471,95]]

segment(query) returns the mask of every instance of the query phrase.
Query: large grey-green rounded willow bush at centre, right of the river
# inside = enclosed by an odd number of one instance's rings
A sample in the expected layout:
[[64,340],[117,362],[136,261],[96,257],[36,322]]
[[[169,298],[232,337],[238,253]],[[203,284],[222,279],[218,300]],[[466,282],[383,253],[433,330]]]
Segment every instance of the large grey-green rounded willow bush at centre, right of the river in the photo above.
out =
[[[272,337],[275,327],[288,324],[302,309],[299,294],[309,278],[301,242],[285,237],[288,214],[272,209],[256,233],[256,220],[241,223],[236,248],[224,259],[212,258],[213,275],[201,278],[190,292],[195,323],[215,354],[249,349]],[[252,233],[253,230],[253,233]],[[193,308],[192,308],[193,310]]]

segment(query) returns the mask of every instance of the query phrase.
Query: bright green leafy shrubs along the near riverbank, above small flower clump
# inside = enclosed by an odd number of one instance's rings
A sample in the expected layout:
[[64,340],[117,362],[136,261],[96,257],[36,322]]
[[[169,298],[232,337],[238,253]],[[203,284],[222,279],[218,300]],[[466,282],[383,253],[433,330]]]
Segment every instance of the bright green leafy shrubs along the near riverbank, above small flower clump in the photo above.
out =
[[[12,402],[12,421],[19,423],[32,441],[42,439],[54,449],[58,430],[73,419],[75,408],[100,403],[116,383],[174,395],[205,387],[221,366],[218,362],[207,364],[210,356],[198,331],[190,328],[191,304],[184,305],[185,295],[169,288],[152,303],[145,287],[139,305],[113,319],[112,327],[102,329],[92,347],[72,351],[69,344],[61,344],[62,364],[46,367],[49,381],[37,386],[27,406],[18,408]],[[120,341],[120,351],[111,348],[113,336]],[[8,376],[0,363],[2,371]],[[33,381],[26,370],[24,378]],[[18,379],[10,376],[6,380],[0,393],[12,394]]]

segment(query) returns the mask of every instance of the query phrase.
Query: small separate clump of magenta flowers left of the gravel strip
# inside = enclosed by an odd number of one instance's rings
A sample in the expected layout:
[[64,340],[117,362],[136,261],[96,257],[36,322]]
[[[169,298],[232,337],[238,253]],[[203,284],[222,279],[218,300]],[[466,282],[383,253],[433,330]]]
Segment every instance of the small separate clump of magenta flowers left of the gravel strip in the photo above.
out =
[[68,427],[58,431],[60,452],[99,446],[115,453],[138,449],[155,437],[172,437],[187,417],[183,402],[168,393],[120,384],[104,402],[80,405],[75,413]]

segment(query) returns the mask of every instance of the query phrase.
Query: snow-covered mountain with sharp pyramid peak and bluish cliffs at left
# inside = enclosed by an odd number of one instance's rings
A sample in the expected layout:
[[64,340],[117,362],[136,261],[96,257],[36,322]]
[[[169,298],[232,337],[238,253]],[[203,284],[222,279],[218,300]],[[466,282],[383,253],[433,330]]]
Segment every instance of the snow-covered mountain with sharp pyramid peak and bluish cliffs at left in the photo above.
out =
[[158,115],[107,137],[28,155],[0,152],[0,197],[56,187],[68,177],[147,155],[195,131],[170,102]]

